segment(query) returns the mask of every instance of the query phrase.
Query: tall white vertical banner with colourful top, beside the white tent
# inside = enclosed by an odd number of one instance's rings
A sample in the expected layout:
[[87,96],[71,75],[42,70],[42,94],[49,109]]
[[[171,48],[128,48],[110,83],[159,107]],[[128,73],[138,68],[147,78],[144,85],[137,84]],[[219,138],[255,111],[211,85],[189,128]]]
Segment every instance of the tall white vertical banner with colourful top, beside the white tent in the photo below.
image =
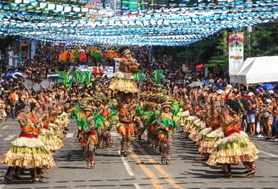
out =
[[229,75],[243,63],[243,32],[229,35]]

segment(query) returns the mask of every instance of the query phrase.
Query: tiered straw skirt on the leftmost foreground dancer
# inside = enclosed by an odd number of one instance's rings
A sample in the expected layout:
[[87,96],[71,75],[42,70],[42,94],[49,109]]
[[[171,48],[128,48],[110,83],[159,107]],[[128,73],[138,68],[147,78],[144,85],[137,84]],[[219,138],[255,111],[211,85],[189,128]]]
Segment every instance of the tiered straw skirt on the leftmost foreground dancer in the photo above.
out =
[[55,165],[52,154],[38,138],[17,138],[12,145],[0,160],[8,166],[35,168]]

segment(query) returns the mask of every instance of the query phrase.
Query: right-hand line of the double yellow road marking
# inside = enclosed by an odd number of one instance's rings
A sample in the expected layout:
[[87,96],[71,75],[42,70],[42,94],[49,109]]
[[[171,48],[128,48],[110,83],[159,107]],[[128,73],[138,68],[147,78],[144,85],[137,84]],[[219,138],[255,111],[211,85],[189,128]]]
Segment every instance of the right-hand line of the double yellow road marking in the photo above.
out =
[[165,172],[165,170],[163,170],[163,168],[161,168],[161,165],[156,164],[156,161],[149,156],[149,154],[147,154],[147,151],[145,151],[145,149],[142,149],[142,147],[138,144],[138,142],[136,140],[133,140],[134,145],[136,145],[139,149],[139,151],[147,157],[147,160],[149,161],[149,163],[152,163],[152,165],[154,165],[154,167],[156,168],[156,170],[158,170],[158,172],[161,173],[161,175],[163,176],[163,178],[170,183],[172,186],[174,186],[174,188],[181,188],[181,186],[179,186],[173,179],[170,179],[170,176],[167,174],[167,172]]

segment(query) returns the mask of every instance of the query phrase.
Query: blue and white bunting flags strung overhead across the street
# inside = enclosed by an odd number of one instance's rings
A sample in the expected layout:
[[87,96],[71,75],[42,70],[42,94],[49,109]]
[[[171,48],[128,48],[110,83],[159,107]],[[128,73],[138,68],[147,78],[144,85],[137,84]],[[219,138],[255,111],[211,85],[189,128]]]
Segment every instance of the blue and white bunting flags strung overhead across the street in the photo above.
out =
[[[10,0],[0,3],[0,35],[17,35],[54,43],[100,45],[184,46],[209,38],[220,31],[240,31],[246,26],[274,22],[278,1],[193,1],[176,7],[131,10],[120,16],[112,8],[71,5],[50,1]],[[141,8],[149,6],[142,1]],[[216,1],[215,1],[216,2]],[[98,11],[96,11],[98,10]],[[56,53],[54,59],[58,59]],[[100,54],[95,54],[101,60]],[[79,58],[77,54],[71,55]]]

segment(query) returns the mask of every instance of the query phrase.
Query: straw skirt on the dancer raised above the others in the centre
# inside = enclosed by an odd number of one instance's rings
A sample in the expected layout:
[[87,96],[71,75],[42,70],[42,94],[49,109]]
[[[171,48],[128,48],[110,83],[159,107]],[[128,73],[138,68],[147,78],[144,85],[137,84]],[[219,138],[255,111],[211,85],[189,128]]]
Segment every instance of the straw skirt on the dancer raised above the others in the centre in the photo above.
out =
[[139,92],[138,87],[134,81],[134,75],[128,72],[115,72],[113,80],[109,87],[111,90],[120,90],[122,92]]

